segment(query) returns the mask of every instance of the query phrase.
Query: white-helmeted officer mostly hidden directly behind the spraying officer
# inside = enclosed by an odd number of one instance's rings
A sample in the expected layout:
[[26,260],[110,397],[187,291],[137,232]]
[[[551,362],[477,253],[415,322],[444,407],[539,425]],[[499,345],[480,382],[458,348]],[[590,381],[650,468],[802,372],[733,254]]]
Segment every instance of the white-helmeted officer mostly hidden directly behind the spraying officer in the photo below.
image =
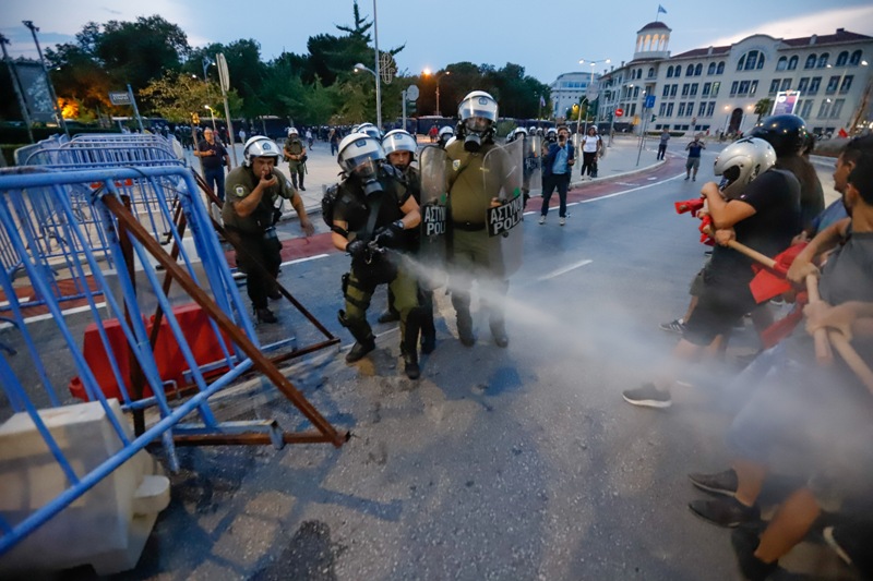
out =
[[[406,185],[416,203],[421,206],[421,178],[418,169],[412,167],[416,159],[418,142],[409,132],[402,129],[390,131],[382,138],[382,148],[385,150],[388,164],[403,174]],[[420,242],[418,229],[410,231],[410,243],[414,253],[418,252]],[[431,353],[436,347],[436,329],[433,325],[433,291],[419,286],[418,301],[421,305],[415,313],[416,322],[421,326],[421,352]],[[394,296],[388,292],[388,308],[380,317],[380,323],[397,320],[399,313],[394,307]],[[408,324],[407,324],[408,325]]]

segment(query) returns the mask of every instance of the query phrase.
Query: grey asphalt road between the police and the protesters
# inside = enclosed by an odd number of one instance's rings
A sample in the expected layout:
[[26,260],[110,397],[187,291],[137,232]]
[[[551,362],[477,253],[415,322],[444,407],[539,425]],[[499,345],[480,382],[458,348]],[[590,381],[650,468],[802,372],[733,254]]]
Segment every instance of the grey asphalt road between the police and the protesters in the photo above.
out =
[[[509,348],[481,319],[477,344],[463,347],[438,292],[438,348],[417,382],[403,375],[396,326],[376,326],[367,360],[343,362],[346,256],[286,264],[282,281],[343,338],[343,352],[289,376],[354,437],[340,449],[179,450],[171,505],[120,578],[740,579],[728,532],[686,508],[701,496],[686,474],[728,460],[729,416],[711,388],[677,388],[666,412],[621,399],[674,344],[658,324],[684,312],[704,262],[696,221],[673,210],[702,184],[682,180],[682,161],[605,184],[563,228],[557,213],[546,226],[528,217]],[[372,320],[383,305],[380,292]],[[314,339],[289,306],[277,310],[299,344]],[[754,349],[740,331],[728,361]],[[280,399],[237,403],[242,417],[304,426]]]

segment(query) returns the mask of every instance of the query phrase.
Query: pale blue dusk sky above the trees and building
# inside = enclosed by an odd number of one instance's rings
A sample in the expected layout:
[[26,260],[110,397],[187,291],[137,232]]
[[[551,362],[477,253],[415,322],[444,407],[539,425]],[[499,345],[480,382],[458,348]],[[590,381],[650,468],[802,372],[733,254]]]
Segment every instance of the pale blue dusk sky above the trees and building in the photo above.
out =
[[[253,38],[261,45],[263,60],[283,50],[306,53],[310,36],[339,34],[335,24],[352,23],[351,0],[0,0],[0,32],[11,41],[12,57],[36,56],[22,20],[32,20],[40,28],[45,50],[72,40],[88,21],[159,14],[178,24],[194,47]],[[657,1],[639,0],[378,0],[379,46],[388,49],[405,44],[397,61],[408,74],[458,61],[497,68],[513,62],[548,84],[564,72],[590,71],[578,64],[579,59],[611,59],[614,64],[631,60],[636,31],[656,15],[672,28],[669,49],[673,55],[728,45],[754,33],[792,38],[833,34],[842,27],[873,36],[870,0],[661,0],[661,5],[666,14],[657,14]],[[362,15],[372,17],[373,0],[362,0],[359,7]]]

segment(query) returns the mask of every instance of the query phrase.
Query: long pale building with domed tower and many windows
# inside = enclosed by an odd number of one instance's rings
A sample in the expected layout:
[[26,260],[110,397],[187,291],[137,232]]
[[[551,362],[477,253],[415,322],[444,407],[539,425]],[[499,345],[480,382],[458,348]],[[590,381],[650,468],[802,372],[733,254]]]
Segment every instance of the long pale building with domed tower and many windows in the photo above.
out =
[[[615,121],[637,129],[736,134],[754,125],[763,99],[774,102],[780,92],[794,90],[793,112],[816,134],[873,122],[873,37],[845,28],[803,38],[758,34],[671,56],[670,33],[662,22],[637,32],[633,60],[602,75],[599,121],[622,109],[624,119]],[[644,109],[653,96],[654,107]]]

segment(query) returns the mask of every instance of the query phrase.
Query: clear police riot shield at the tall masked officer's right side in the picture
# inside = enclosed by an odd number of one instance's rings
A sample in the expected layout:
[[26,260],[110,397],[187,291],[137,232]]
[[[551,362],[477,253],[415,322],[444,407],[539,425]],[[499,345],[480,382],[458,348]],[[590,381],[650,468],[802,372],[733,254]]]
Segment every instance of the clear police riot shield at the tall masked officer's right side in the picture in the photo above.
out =
[[486,210],[486,227],[491,237],[492,264],[502,264],[503,277],[522,266],[525,202],[524,142],[516,140],[490,149],[482,158],[482,187],[493,199]]

